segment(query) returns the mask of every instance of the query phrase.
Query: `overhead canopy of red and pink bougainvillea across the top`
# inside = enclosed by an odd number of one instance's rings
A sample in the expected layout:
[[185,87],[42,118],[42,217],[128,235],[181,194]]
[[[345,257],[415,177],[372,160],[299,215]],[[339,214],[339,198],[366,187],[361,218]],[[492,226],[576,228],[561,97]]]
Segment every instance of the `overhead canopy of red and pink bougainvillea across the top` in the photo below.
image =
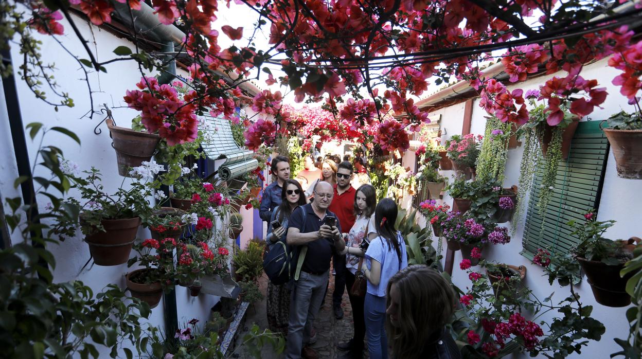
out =
[[[80,10],[96,25],[109,24],[114,6],[125,4],[131,17],[135,51],[123,46],[116,58],[99,62],[92,50],[71,54],[85,71],[107,71],[114,61],[136,61],[141,73],[165,71],[166,54],[143,46],[144,34],[137,31],[135,17],[149,8],[139,0],[20,0],[29,11],[8,19],[18,30],[26,53],[24,78],[43,100],[52,105],[72,106],[73,100],[58,91],[48,76],[53,67],[44,64],[31,30],[53,37],[71,30],[83,42],[70,10]],[[121,4],[118,4],[121,3]],[[528,110],[521,89],[508,91],[505,83],[487,78],[480,66],[500,58],[511,83],[528,74],[551,76],[539,91],[548,111],[548,123],[557,125],[563,110],[586,116],[607,98],[597,80],[584,78],[584,64],[609,58],[609,66],[621,73],[612,83],[621,94],[636,101],[642,87],[642,46],[629,29],[642,11],[629,1],[521,0],[511,3],[492,0],[153,0],[153,13],[162,24],[177,24],[185,37],[177,53],[186,53],[191,80],[184,98],[143,78],[139,90],[128,91],[126,102],[143,114],[143,124],[171,143],[190,141],[196,114],[212,112],[230,117],[239,85],[250,78],[281,84],[282,92],[262,91],[252,100],[257,112],[245,137],[250,148],[273,144],[275,136],[293,132],[298,119],[282,107],[282,98],[293,94],[295,101],[323,102],[334,116],[325,122],[320,136],[365,139],[389,149],[407,148],[408,132],[429,121],[413,97],[421,96],[431,84],[465,80],[480,92],[480,105],[503,122],[525,123]],[[218,28],[219,6],[236,6],[253,13],[256,28]],[[244,6],[245,8],[239,8]],[[13,9],[17,4],[9,5]],[[152,9],[149,9],[152,11]],[[8,13],[7,11],[5,13]],[[60,22],[65,18],[71,29]],[[21,28],[27,21],[30,28]],[[77,19],[76,19],[77,21]],[[530,25],[533,24],[533,25]],[[257,48],[257,31],[269,34],[268,44]],[[4,31],[3,36],[10,36]],[[221,48],[220,36],[234,45]],[[3,39],[6,40],[6,39]],[[7,43],[3,41],[3,43]],[[99,44],[100,45],[100,44]],[[177,55],[175,58],[179,58]],[[88,59],[87,59],[88,58]],[[34,60],[35,59],[35,60]],[[270,67],[278,67],[281,74]],[[3,73],[7,69],[3,68]],[[563,74],[555,74],[564,70]],[[225,76],[221,76],[224,73]],[[55,75],[55,73],[53,73]],[[89,82],[89,80],[88,80]],[[44,84],[58,96],[45,96]],[[134,83],[132,83],[134,85]],[[91,87],[90,87],[91,91]],[[56,99],[57,98],[57,99]],[[93,109],[92,109],[93,110]],[[403,114],[400,120],[390,115]],[[330,117],[329,117],[330,118]],[[294,123],[292,121],[295,121]],[[306,123],[312,123],[311,122]],[[304,126],[305,127],[305,126]],[[376,129],[376,130],[375,130]],[[296,128],[302,133],[311,132]]]

